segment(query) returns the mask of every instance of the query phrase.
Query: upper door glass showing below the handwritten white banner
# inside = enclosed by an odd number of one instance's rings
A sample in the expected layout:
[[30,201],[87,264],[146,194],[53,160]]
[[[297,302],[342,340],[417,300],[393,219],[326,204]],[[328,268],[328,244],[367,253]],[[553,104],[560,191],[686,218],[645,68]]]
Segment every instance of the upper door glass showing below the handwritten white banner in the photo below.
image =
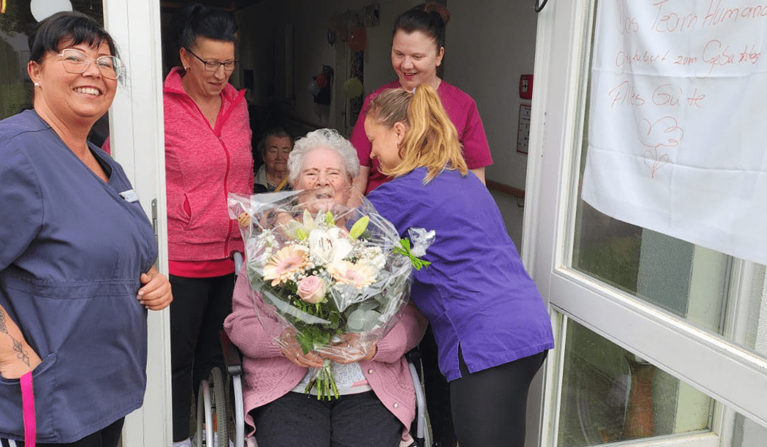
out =
[[[593,35],[591,39],[593,45]],[[589,98],[587,91],[578,192],[588,155]],[[613,219],[584,202],[580,193],[576,204],[571,268],[742,347],[767,353],[765,266]],[[739,284],[742,278],[749,284]]]

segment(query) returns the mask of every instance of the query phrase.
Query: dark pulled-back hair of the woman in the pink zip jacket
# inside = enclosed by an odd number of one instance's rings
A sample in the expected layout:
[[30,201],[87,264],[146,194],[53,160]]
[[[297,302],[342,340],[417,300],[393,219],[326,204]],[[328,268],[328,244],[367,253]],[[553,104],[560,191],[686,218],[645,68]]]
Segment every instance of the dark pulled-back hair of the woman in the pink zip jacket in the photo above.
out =
[[230,12],[193,3],[179,9],[173,19],[173,32],[179,48],[192,48],[197,38],[234,42],[237,22]]

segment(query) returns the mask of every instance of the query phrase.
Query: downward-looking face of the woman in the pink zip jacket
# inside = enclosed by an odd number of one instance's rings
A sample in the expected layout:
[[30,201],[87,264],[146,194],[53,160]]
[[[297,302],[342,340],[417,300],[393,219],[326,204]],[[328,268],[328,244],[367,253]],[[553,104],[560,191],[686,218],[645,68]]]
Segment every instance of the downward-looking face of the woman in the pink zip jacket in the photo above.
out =
[[[233,71],[226,71],[222,65],[216,71],[207,71],[202,61],[226,62],[235,60],[234,42],[214,41],[209,38],[196,38],[193,48],[189,48],[194,54],[189,54],[186,48],[179,50],[181,62],[186,67],[183,77],[183,86],[186,93],[191,97],[217,97],[229,82]],[[200,61],[195,55],[202,59]]]

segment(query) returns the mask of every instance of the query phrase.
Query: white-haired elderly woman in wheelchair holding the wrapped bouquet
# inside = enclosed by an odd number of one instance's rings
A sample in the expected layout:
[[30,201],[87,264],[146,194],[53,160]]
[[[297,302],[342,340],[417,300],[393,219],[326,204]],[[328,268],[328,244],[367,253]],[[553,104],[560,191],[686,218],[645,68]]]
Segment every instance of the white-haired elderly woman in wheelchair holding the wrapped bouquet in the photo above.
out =
[[[288,166],[294,189],[345,204],[359,163],[347,140],[334,130],[322,129],[296,141]],[[258,300],[262,302],[261,297]],[[323,354],[304,354],[295,337],[286,337],[294,342],[289,348],[275,344],[281,324],[263,316],[259,320],[247,274],[239,275],[232,306],[224,327],[244,354],[245,419],[255,427],[258,445],[397,447],[409,443],[407,431],[416,404],[403,355],[416,346],[426,329],[426,320],[413,304],[403,307],[399,322],[364,357],[326,356],[334,360],[341,394],[330,402],[304,393],[312,375],[309,368],[322,366]]]

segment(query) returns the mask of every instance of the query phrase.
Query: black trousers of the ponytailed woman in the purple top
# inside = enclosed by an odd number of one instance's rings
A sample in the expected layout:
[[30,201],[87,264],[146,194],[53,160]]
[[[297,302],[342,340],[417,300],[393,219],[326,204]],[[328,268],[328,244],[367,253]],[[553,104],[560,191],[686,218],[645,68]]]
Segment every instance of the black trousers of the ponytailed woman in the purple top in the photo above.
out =
[[469,373],[459,348],[461,378],[450,382],[450,399],[461,447],[525,445],[528,389],[547,352]]

